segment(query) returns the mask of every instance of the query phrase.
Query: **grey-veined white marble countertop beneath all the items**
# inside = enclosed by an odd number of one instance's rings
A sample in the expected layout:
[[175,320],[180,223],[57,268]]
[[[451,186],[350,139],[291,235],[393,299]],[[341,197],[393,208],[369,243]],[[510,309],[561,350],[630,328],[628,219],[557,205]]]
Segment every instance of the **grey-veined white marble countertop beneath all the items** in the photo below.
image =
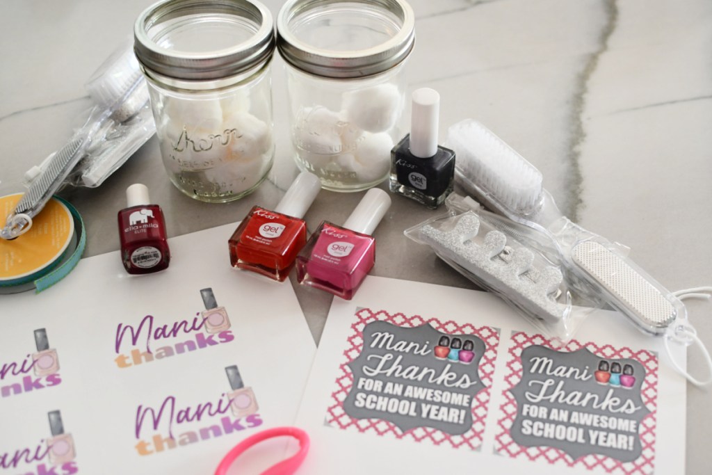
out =
[[[0,196],[63,145],[88,108],[83,83],[152,0],[24,0],[0,16]],[[265,0],[276,15],[280,0]],[[440,135],[476,118],[544,174],[567,216],[631,248],[667,288],[712,284],[712,3],[706,0],[411,0],[417,42],[409,91],[441,93]],[[152,138],[98,189],[61,194],[85,219],[85,256],[119,248],[125,189],[147,184],[169,236],[239,221],[272,207],[295,176],[283,61],[273,61],[276,159],[268,181],[230,204],[204,204],[168,181]],[[407,118],[407,115],[404,115]],[[407,121],[406,121],[407,122]],[[405,123],[405,122],[404,122]],[[380,185],[387,189],[387,184]],[[305,219],[342,222],[362,193],[322,192]],[[433,212],[393,197],[375,232],[377,276],[473,285],[402,231]],[[226,236],[226,239],[229,236]],[[200,252],[200,249],[195,249]],[[227,256],[227,253],[226,253]],[[330,297],[292,285],[318,342]],[[1,297],[0,297],[1,301]],[[712,348],[711,304],[690,318]],[[689,369],[703,370],[691,353]],[[706,472],[710,392],[688,385],[687,473]]]

